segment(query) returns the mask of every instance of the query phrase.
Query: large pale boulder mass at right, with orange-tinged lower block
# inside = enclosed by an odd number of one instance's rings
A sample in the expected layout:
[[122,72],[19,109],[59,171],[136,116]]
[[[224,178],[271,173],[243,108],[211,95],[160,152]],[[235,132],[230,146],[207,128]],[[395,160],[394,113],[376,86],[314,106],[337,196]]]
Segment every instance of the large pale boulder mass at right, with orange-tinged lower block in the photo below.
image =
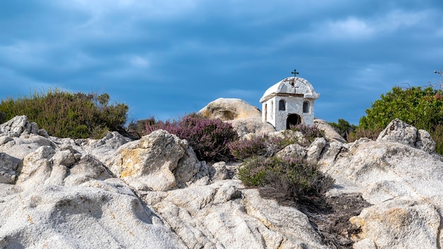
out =
[[328,195],[359,192],[372,204],[350,219],[362,240],[355,248],[438,248],[443,243],[443,162],[429,146],[415,146],[422,141],[417,133],[393,120],[377,141],[359,139],[323,150],[321,170],[335,179]]

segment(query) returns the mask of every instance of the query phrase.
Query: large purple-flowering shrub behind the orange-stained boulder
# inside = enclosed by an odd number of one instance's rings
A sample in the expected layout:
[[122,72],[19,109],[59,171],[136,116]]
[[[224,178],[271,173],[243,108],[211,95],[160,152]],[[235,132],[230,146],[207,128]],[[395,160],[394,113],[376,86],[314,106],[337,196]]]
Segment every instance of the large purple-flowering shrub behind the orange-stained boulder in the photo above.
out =
[[197,158],[205,161],[230,157],[228,143],[238,138],[231,124],[196,115],[188,115],[178,121],[146,124],[144,134],[149,134],[156,129],[164,129],[171,134],[176,134],[180,139],[188,140]]

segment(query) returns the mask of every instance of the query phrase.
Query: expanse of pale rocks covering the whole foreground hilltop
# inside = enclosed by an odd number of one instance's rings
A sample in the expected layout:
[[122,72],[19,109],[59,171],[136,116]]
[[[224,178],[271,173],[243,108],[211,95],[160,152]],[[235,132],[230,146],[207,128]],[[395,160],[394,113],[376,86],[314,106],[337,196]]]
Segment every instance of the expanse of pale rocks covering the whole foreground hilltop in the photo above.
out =
[[330,208],[314,210],[260,197],[238,166],[198,161],[163,130],[60,139],[15,117],[0,125],[0,247],[441,248],[443,158],[430,135],[401,120],[376,141],[329,132],[279,152],[335,178]]

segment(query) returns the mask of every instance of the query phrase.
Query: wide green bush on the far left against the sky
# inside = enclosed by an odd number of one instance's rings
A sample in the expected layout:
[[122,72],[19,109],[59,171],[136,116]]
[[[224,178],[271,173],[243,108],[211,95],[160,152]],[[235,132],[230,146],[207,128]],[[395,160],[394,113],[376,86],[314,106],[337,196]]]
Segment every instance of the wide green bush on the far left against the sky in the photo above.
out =
[[35,92],[30,98],[1,100],[4,120],[26,115],[48,134],[55,137],[101,138],[109,130],[125,124],[127,105],[109,105],[108,93],[69,93],[59,89]]

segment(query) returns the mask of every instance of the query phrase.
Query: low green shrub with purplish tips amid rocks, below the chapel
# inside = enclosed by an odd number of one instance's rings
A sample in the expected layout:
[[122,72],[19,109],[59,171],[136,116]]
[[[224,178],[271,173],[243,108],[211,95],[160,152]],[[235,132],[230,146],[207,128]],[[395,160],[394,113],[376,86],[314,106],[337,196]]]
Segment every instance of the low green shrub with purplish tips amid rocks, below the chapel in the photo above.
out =
[[264,158],[253,156],[238,169],[238,179],[247,186],[264,187],[269,197],[297,199],[306,195],[321,195],[334,180],[324,175],[303,158]]

